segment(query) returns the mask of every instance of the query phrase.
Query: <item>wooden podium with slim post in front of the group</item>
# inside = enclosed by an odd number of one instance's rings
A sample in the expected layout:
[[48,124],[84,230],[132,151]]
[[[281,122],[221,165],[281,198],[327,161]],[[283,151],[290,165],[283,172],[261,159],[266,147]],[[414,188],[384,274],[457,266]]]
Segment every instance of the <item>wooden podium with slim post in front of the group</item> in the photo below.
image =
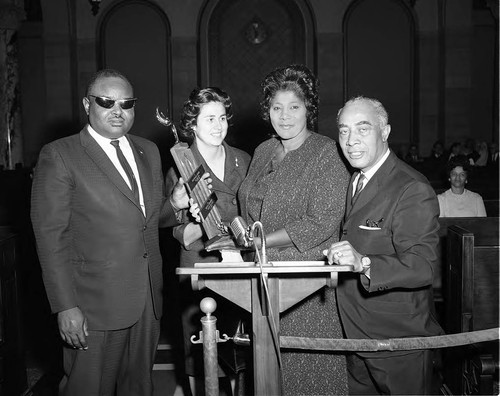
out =
[[252,314],[254,393],[259,396],[281,395],[279,314],[323,286],[336,287],[338,273],[348,271],[352,266],[323,261],[275,261],[262,270],[253,262],[176,269],[178,275],[191,275],[194,290],[206,287]]

